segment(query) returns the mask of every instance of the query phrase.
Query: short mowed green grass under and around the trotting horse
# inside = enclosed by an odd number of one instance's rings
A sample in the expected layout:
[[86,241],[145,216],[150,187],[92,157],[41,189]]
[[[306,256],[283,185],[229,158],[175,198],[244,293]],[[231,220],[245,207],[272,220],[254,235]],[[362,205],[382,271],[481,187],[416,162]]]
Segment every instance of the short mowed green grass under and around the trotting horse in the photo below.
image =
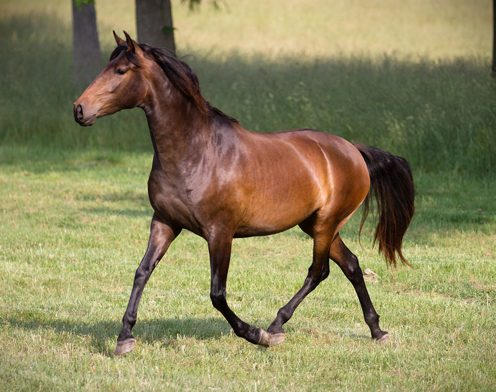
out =
[[[2,390],[492,390],[488,181],[416,173],[418,214],[404,250],[413,268],[387,269],[368,233],[361,248],[358,217],[343,228],[362,268],[379,275],[368,287],[390,345],[370,340],[334,265],[287,324],[283,344],[262,349],[237,338],[210,303],[206,243],[185,232],[154,271],[134,328],[138,346],[121,358],[113,350],[152,213],[151,156],[31,154],[19,148],[16,162],[1,162]],[[311,241],[297,229],[235,240],[229,303],[267,328],[310,260]]]

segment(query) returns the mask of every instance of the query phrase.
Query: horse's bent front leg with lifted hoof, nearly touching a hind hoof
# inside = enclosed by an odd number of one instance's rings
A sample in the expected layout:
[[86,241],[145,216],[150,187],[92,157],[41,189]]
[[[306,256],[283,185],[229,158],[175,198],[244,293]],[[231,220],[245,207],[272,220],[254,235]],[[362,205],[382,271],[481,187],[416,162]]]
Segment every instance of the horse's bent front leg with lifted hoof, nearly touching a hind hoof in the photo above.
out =
[[257,327],[250,327],[229,308],[226,300],[226,281],[231,259],[233,236],[210,236],[208,253],[210,255],[210,299],[214,307],[222,313],[234,330],[234,333],[253,344],[264,347],[269,345],[267,333]]

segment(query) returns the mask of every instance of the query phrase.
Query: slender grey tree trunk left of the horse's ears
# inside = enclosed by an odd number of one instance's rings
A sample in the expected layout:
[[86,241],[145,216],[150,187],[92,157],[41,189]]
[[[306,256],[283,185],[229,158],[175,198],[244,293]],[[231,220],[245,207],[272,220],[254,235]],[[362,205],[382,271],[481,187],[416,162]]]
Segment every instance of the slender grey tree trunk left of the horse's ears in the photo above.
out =
[[100,72],[100,46],[93,4],[76,5],[72,0],[73,48],[75,85],[88,84]]

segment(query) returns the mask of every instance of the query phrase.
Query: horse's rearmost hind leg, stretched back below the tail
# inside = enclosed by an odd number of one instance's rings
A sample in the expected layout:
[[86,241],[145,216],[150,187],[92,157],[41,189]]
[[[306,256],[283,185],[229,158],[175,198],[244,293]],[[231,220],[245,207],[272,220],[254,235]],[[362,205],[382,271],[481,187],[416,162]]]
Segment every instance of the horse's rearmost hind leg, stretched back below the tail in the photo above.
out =
[[388,341],[389,335],[387,332],[382,331],[379,328],[379,315],[375,312],[372,305],[367,287],[365,286],[364,276],[358,263],[358,258],[346,247],[346,245],[344,245],[339,234],[331,245],[329,256],[337,265],[339,265],[355,288],[360,305],[362,305],[365,322],[371,329],[372,338],[379,342]]

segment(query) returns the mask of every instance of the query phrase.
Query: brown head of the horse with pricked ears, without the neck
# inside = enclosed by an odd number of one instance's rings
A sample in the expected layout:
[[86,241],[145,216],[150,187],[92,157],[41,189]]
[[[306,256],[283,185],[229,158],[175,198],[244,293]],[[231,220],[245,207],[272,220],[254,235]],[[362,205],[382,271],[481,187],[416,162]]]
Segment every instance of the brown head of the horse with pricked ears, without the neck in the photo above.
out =
[[126,41],[114,32],[118,48],[102,72],[74,102],[74,120],[82,126],[93,125],[98,117],[136,107],[146,97],[148,88],[143,71],[147,66],[153,66],[153,61],[126,32],[124,34]]

